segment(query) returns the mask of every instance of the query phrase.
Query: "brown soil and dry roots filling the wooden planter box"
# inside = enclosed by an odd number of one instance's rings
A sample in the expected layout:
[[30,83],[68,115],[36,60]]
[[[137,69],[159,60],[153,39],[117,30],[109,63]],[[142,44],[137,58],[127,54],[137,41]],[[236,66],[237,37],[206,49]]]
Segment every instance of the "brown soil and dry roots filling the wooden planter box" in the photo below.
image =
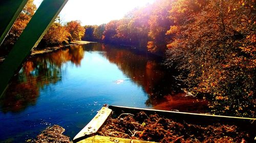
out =
[[116,119],[111,118],[98,134],[157,142],[245,143],[249,140],[249,134],[234,125],[179,123],[158,115],[147,116],[144,112],[137,115],[123,113]]

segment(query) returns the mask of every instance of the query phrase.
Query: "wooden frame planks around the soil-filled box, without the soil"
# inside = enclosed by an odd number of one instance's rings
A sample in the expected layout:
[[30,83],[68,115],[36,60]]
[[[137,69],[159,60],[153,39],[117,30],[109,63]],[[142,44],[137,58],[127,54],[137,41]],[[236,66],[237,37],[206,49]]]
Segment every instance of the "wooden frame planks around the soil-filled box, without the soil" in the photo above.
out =
[[[156,110],[156,109],[145,109],[145,108],[135,108],[135,107],[125,107],[125,106],[113,106],[110,105],[109,108],[102,107],[101,110],[110,109],[110,112],[114,112],[119,115],[121,112],[127,113],[138,113],[140,111],[144,111],[147,114],[155,114],[157,113],[160,116],[164,116],[166,118],[171,117],[171,119],[175,119],[177,121],[196,121],[197,123],[202,124],[212,124],[212,123],[221,123],[223,120],[225,124],[232,125],[233,123],[242,123],[239,127],[249,130],[252,134],[255,134],[255,120],[254,118],[240,118],[240,117],[227,117],[227,116],[214,116],[214,115],[203,115],[198,113],[188,113],[188,112],[175,112],[175,111],[166,111],[166,110]],[[108,116],[100,118],[101,110],[97,113],[94,119],[84,127],[74,138],[74,142],[79,141],[82,142],[149,142],[149,141],[141,141],[141,140],[132,140],[125,138],[116,138],[109,136],[99,136],[95,135],[95,133],[99,130],[99,128],[108,120],[110,114]],[[234,122],[237,121],[237,122]],[[240,122],[238,122],[240,121]],[[91,130],[92,127],[97,127],[96,129]],[[95,135],[95,136],[92,136]],[[77,140],[77,138],[79,138]],[[115,140],[117,139],[117,140]]]

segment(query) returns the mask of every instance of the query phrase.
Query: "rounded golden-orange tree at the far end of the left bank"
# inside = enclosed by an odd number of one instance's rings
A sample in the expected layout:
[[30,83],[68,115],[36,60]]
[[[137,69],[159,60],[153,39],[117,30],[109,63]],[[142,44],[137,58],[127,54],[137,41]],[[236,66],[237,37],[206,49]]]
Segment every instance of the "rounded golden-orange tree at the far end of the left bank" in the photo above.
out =
[[67,30],[70,33],[71,37],[70,40],[81,40],[82,36],[84,35],[84,27],[81,26],[80,21],[70,21],[67,23]]

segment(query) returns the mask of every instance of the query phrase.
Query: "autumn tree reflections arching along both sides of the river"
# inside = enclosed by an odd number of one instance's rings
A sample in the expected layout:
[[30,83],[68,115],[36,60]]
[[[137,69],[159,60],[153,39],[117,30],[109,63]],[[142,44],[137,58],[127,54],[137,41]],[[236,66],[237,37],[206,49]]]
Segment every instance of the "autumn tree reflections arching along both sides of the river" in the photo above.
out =
[[[194,97],[186,97],[181,85],[175,80],[174,71],[166,70],[161,59],[147,55],[136,49],[91,43],[71,46],[53,53],[30,58],[19,71],[0,100],[3,112],[18,112],[35,105],[41,89],[61,81],[65,69],[63,64],[71,62],[81,65],[84,53],[96,51],[109,62],[117,65],[148,96],[145,104],[156,109],[178,109],[180,111],[203,112],[207,102]],[[90,70],[90,69],[89,69]],[[102,74],[104,71],[102,71]],[[107,74],[106,74],[107,75]],[[196,106],[196,108],[191,108]]]

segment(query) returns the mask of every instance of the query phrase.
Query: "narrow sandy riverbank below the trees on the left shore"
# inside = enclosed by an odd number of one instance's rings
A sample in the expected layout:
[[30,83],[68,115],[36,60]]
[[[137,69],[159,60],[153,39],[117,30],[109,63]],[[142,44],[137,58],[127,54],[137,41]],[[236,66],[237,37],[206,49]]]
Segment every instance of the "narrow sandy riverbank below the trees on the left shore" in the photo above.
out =
[[[41,49],[35,48],[32,50],[30,56],[33,56],[36,54],[44,54],[44,53],[48,53],[48,52],[53,52],[58,49],[68,48],[69,46],[73,46],[73,45],[84,45],[84,44],[89,44],[89,43],[97,43],[97,42],[74,40],[74,41],[70,42],[69,44],[65,44],[65,45],[59,45],[59,46],[54,46],[54,47],[45,47],[45,48],[41,48]],[[5,58],[6,58],[5,56],[0,56],[0,63],[2,63],[5,60]]]

